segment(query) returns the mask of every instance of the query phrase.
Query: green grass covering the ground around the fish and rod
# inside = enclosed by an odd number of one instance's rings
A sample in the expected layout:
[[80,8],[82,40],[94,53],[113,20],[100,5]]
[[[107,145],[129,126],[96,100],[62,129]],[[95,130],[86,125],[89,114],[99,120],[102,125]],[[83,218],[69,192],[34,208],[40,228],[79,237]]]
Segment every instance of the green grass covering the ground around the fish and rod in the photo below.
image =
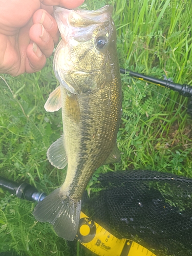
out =
[[[191,84],[190,1],[87,0],[83,6],[91,10],[105,4],[114,6],[120,67],[158,78],[165,74],[174,82]],[[28,182],[46,193],[66,175],[66,170],[54,168],[46,159],[48,147],[62,134],[61,113],[44,110],[49,93],[58,85],[52,59],[38,73],[15,78],[2,74],[6,82],[0,79],[0,175]],[[188,99],[127,75],[121,78],[122,121],[117,142],[122,161],[102,166],[96,173],[152,169],[192,178]],[[33,203],[3,190],[0,196],[0,252],[70,254],[67,243],[49,224],[35,221]]]

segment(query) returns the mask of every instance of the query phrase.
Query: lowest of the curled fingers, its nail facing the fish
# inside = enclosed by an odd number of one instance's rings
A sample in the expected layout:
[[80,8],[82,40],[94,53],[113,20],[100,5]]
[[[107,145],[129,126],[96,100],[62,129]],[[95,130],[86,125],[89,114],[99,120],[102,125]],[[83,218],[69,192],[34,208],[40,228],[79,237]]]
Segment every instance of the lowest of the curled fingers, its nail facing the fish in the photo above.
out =
[[35,42],[28,45],[26,49],[26,56],[26,73],[37,72],[46,64],[46,56],[41,52]]

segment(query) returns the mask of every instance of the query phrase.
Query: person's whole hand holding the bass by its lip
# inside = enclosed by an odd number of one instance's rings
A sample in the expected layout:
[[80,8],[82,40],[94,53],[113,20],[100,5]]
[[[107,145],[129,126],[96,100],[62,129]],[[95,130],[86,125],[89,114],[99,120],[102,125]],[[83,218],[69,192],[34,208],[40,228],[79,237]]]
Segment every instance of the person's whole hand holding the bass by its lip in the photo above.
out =
[[0,0],[0,73],[41,70],[58,42],[53,6],[68,9],[84,0]]

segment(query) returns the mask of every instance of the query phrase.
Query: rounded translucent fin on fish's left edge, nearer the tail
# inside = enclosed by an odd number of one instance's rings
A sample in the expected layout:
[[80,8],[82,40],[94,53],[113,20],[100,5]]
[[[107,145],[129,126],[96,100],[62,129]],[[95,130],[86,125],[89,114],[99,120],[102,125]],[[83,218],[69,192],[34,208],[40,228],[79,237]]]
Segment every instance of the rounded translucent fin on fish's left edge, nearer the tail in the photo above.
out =
[[50,163],[58,169],[67,165],[67,154],[64,147],[63,135],[53,142],[47,151],[47,157]]

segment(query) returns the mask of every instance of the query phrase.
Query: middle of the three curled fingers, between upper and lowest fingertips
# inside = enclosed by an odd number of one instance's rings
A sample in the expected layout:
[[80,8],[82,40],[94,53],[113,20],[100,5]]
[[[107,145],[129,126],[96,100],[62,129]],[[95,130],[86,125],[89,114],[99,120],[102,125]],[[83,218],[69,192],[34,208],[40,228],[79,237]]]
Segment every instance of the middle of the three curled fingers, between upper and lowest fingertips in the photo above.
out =
[[41,24],[34,24],[29,31],[30,39],[37,44],[41,52],[48,58],[53,53],[54,41]]

